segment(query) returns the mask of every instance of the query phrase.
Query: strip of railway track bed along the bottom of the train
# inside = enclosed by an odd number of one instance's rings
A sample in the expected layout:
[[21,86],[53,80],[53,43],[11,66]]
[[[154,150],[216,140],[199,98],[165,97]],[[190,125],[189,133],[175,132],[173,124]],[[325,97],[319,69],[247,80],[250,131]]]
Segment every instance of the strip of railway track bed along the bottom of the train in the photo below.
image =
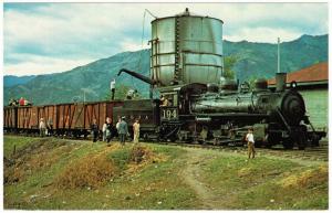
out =
[[[14,134],[6,134],[12,136],[20,136]],[[27,137],[25,135],[23,137]],[[50,137],[50,138],[58,138],[58,139],[72,139],[83,141],[86,140],[84,138],[63,138],[63,137]],[[143,141],[145,143],[157,143],[157,145],[170,145],[170,146],[180,146],[180,147],[189,147],[189,148],[197,148],[197,149],[214,149],[219,151],[226,152],[236,152],[247,155],[247,147],[230,147],[230,146],[220,146],[220,145],[200,145],[200,143],[186,143],[180,141]],[[329,161],[329,141],[322,140],[319,147],[308,147],[304,150],[299,149],[291,149],[286,150],[281,147],[277,148],[255,148],[258,156],[272,156],[272,157],[280,157],[280,158],[289,158],[289,159],[300,159],[300,160],[312,160],[312,161]]]

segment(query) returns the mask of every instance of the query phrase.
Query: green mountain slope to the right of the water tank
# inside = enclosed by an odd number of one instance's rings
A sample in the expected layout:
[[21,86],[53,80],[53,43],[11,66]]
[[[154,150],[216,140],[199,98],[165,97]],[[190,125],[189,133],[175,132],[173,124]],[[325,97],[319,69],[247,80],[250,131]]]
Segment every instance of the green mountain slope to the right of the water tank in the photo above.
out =
[[[280,71],[290,73],[328,61],[328,35],[302,35],[280,44]],[[277,72],[277,44],[224,41],[224,54],[235,55],[234,67],[240,81],[267,77]]]

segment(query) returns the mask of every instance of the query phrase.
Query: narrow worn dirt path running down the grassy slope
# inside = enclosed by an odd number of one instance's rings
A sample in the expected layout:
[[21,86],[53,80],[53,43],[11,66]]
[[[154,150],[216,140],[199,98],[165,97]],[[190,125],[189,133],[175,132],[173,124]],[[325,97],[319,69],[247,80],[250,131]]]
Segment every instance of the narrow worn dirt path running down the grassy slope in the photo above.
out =
[[221,210],[222,206],[219,202],[220,196],[215,194],[208,185],[199,180],[200,166],[211,158],[212,157],[210,155],[207,155],[203,150],[190,149],[190,151],[188,151],[185,156],[186,162],[180,177],[184,179],[185,183],[196,192],[197,198],[200,199],[203,204],[201,209]]

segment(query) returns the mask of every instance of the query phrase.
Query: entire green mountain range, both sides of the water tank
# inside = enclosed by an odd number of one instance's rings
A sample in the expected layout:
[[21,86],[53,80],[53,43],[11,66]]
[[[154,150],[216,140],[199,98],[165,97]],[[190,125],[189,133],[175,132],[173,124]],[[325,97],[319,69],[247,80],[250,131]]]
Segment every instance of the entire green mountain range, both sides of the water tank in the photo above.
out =
[[[240,81],[253,77],[270,78],[277,72],[277,44],[248,41],[224,41],[225,56],[236,56],[234,67]],[[302,35],[298,40],[280,44],[281,71],[292,72],[319,62],[328,61],[328,35]],[[122,74],[128,68],[149,76],[149,50],[124,52],[102,58],[71,71],[51,75],[39,75],[25,84],[4,88],[4,103],[21,96],[35,105],[72,103],[74,99],[104,99],[110,92],[110,81],[116,77],[116,85],[127,85],[148,96],[148,85]]]

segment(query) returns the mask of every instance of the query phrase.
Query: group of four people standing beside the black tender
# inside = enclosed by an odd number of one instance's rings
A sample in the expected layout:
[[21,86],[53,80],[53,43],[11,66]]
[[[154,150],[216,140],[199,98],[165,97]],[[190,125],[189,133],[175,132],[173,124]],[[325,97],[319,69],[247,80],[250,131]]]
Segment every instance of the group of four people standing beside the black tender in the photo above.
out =
[[[92,134],[93,142],[97,141],[98,132],[100,132],[100,128],[97,121],[96,119],[93,119],[93,123],[91,125],[91,134]],[[118,118],[115,126],[113,125],[112,118],[107,117],[105,124],[103,125],[102,132],[103,132],[103,141],[106,141],[107,146],[111,145],[110,142],[112,138],[114,138],[116,135],[118,136],[120,142],[124,146],[126,141],[126,137],[129,136],[126,117],[123,116]],[[135,123],[133,124],[133,132],[134,132],[134,142],[137,143],[139,139],[139,119],[135,119]]]

